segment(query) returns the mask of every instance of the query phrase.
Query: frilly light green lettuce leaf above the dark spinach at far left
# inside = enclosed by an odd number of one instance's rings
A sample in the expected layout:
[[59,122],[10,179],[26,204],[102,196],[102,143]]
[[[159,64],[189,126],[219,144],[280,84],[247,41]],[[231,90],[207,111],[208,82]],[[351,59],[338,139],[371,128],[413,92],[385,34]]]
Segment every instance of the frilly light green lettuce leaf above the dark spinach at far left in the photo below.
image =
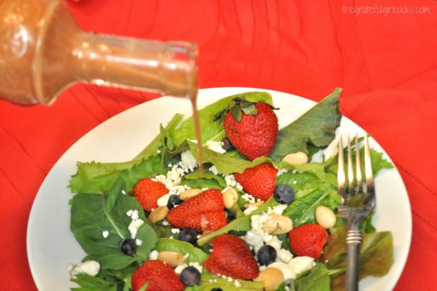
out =
[[125,181],[128,191],[144,177],[165,174],[161,158],[153,155],[137,164],[133,162],[78,162],[78,172],[71,177],[69,187],[73,193],[108,193],[118,177]]

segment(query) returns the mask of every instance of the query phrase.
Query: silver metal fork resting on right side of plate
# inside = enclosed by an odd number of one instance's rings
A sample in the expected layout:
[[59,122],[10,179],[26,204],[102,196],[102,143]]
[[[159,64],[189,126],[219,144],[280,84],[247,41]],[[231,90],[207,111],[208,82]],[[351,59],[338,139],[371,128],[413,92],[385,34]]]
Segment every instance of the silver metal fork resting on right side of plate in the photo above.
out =
[[[358,290],[358,254],[362,241],[359,223],[367,218],[376,206],[374,176],[371,168],[369,141],[364,136],[364,174],[362,180],[361,159],[359,154],[358,136],[355,136],[355,175],[352,161],[352,152],[349,135],[347,135],[347,179],[345,174],[345,159],[343,156],[342,136],[338,142],[338,194],[342,203],[338,206],[338,213],[347,219],[347,263],[346,263],[346,290]],[[355,176],[355,177],[354,177]],[[356,184],[355,184],[356,180]],[[347,184],[346,184],[347,182]]]

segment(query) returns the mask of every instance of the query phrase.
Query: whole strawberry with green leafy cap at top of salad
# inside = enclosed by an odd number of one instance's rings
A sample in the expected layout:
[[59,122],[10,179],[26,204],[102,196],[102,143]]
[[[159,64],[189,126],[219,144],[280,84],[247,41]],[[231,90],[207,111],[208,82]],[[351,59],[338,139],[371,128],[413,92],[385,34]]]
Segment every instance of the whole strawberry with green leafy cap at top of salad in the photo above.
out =
[[278,135],[278,117],[273,109],[266,103],[255,103],[254,107],[257,113],[252,112],[251,115],[246,114],[245,108],[242,107],[240,121],[234,117],[238,109],[233,110],[231,107],[223,121],[223,127],[230,142],[250,160],[261,157],[261,155],[269,155]]

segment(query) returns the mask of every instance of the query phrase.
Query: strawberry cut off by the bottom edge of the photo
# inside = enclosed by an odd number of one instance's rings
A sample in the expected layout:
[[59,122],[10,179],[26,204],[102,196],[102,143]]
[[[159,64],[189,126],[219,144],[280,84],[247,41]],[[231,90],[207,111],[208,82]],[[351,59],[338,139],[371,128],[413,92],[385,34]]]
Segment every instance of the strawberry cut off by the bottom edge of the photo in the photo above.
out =
[[161,261],[147,261],[132,275],[133,291],[149,283],[147,291],[182,291],[185,286],[180,282],[171,266]]

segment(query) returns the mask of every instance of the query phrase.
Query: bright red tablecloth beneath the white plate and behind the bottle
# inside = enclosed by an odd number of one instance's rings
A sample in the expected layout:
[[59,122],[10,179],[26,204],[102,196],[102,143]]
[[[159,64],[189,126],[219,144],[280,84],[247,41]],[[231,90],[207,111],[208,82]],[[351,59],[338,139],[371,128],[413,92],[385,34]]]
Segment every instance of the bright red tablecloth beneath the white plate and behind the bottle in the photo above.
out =
[[[396,290],[436,287],[436,1],[82,0],[70,8],[87,30],[197,42],[201,88],[318,101],[343,87],[341,111],[386,149],[410,195],[412,245]],[[51,107],[0,101],[1,290],[35,290],[27,218],[56,160],[97,124],[154,97],[75,85]]]

